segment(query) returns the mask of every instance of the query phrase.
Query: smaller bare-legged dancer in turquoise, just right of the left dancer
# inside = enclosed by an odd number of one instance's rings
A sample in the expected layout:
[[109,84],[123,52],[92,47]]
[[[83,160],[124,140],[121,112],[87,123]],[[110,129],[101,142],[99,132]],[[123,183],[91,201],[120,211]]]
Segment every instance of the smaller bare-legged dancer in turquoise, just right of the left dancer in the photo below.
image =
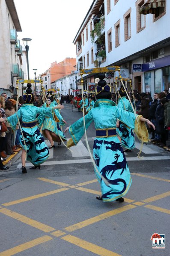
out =
[[[56,102],[54,101],[54,98],[48,97],[47,102],[44,103],[42,108],[48,109],[49,106],[50,108],[52,108],[55,106],[55,104]],[[53,114],[54,114],[54,117],[53,117]],[[43,135],[46,138],[48,138],[49,142],[51,143],[51,146],[49,147],[49,149],[55,148],[54,141],[58,142],[58,146],[60,146],[61,145],[60,138],[62,138],[63,141],[67,140],[60,127],[60,126],[64,126],[66,124],[66,121],[60,115],[60,112],[58,109],[51,111],[51,114],[49,116],[40,114],[36,120],[39,123],[39,129],[42,126]]]

